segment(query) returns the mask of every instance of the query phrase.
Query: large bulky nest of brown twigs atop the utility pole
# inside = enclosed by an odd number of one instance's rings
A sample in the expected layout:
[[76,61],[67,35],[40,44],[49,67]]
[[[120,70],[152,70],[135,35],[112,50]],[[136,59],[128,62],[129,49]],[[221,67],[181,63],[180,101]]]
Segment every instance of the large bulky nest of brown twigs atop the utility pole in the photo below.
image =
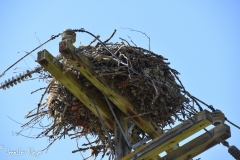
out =
[[[196,113],[189,104],[190,98],[183,92],[185,89],[177,77],[179,73],[169,67],[166,58],[147,49],[131,46],[126,40],[121,43],[105,42],[104,44],[112,53],[100,44],[79,46],[78,52],[94,64],[91,70],[95,76],[100,81],[101,77],[110,79],[113,88],[117,88],[132,102],[137,113],[149,117],[163,131],[176,121],[182,121],[185,117]],[[58,56],[58,60],[64,70],[74,73],[103,102],[106,102],[104,95],[67,59]],[[42,70],[41,74],[44,72]],[[90,148],[91,155],[97,156],[100,152],[103,153],[102,157],[111,155],[114,151],[114,132],[107,128],[111,137],[109,142],[99,118],[55,78],[48,80],[49,84],[44,88],[45,92],[37,107],[38,113],[27,115],[26,117],[33,119],[25,126],[47,115],[51,122],[38,137],[49,137],[54,142],[65,135],[71,138],[87,138],[90,135],[95,137],[95,140],[88,141],[87,144],[83,144],[86,148],[78,148],[76,151]],[[42,102],[44,95],[47,94],[46,102]],[[131,127],[131,144],[148,136],[136,125]]]

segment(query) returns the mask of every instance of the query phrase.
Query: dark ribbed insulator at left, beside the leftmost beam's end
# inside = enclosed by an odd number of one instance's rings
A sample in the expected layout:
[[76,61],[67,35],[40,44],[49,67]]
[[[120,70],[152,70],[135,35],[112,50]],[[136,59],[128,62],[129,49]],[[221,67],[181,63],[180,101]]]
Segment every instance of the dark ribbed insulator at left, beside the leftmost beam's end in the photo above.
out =
[[0,84],[0,89],[6,90],[7,88],[13,87],[14,85],[17,85],[18,83],[21,83],[21,81],[25,81],[28,78],[32,78],[32,74],[35,72],[39,72],[41,70],[41,67],[36,67],[34,70],[20,73],[19,75],[16,75],[15,77],[9,78],[8,80],[5,80]]

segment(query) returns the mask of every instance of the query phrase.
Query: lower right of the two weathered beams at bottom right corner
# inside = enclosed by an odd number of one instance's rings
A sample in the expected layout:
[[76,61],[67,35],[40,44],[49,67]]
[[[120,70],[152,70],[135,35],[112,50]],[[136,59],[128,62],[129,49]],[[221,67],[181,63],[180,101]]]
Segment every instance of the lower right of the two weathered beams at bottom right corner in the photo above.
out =
[[226,140],[231,137],[230,127],[225,124],[218,125],[192,141],[186,143],[174,152],[167,154],[163,159],[167,160],[186,160],[192,159],[198,154],[219,144],[218,140]]

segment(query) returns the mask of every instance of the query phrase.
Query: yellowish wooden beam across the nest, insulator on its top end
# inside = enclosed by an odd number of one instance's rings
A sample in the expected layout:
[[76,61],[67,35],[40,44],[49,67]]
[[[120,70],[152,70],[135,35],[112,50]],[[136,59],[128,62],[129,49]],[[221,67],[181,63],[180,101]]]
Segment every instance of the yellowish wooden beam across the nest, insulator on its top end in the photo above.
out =
[[[94,64],[91,63],[84,55],[77,53],[77,49],[68,40],[63,40],[59,43],[60,53],[69,59],[76,69],[78,69],[93,85],[95,85],[108,99],[110,99],[122,112],[127,116],[135,116],[138,113],[134,110],[134,106],[131,101],[122,96],[117,88],[111,86],[110,80],[106,77],[100,79],[94,76],[91,67]],[[135,124],[141,128],[145,133],[152,134],[156,137],[161,135],[159,128],[154,128],[153,125],[145,116],[134,117],[132,120]]]

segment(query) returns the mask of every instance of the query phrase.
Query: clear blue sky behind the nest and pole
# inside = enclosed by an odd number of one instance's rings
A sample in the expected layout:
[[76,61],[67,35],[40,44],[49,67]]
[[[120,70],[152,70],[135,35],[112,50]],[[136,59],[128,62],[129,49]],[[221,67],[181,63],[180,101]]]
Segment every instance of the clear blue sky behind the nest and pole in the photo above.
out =
[[[122,37],[143,48],[148,39],[139,33],[121,29],[132,28],[145,32],[151,38],[151,50],[169,59],[171,67],[178,70],[185,88],[194,96],[215,108],[240,125],[240,2],[237,0],[195,1],[13,1],[0,0],[0,72],[31,51],[51,35],[66,28],[85,28],[107,39],[117,29],[114,41]],[[44,46],[58,54],[60,38]],[[88,44],[92,37],[77,34],[75,45]],[[19,53],[18,53],[19,52]],[[0,78],[0,82],[36,66],[34,56],[29,56]],[[14,68],[15,68],[14,67]],[[41,82],[24,82],[6,91],[0,90],[0,150],[1,160],[31,160],[30,155],[7,156],[8,149],[26,151],[33,147],[40,151],[47,139],[27,139],[12,134],[21,129],[14,120],[25,123],[24,115],[35,108],[41,93],[31,91],[43,87]],[[30,132],[30,130],[29,130]],[[240,149],[240,130],[231,126],[231,145]],[[36,134],[32,131],[32,134]],[[57,141],[43,153],[39,160],[82,159],[72,154],[76,142],[68,138]],[[28,153],[27,153],[28,154]],[[85,155],[89,155],[86,152]],[[233,159],[222,145],[197,156],[202,160]]]

